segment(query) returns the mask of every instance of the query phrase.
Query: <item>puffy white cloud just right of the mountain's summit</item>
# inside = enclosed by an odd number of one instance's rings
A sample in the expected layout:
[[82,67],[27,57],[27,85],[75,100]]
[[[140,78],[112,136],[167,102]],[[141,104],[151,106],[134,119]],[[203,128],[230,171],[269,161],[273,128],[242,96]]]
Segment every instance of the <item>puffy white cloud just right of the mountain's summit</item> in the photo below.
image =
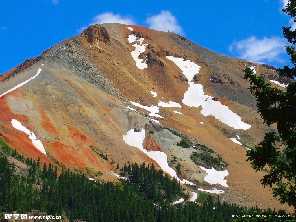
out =
[[170,14],[169,11],[161,11],[158,15],[148,17],[146,22],[149,24],[149,28],[158,31],[169,30],[170,32],[184,34],[184,31],[178,24],[176,17]]

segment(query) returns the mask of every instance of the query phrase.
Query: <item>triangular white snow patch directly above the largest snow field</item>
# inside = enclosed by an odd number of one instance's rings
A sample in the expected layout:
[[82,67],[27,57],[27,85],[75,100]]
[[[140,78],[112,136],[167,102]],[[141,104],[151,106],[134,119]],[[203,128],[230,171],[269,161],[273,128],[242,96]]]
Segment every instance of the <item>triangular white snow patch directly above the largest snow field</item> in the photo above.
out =
[[200,66],[195,64],[194,62],[190,62],[190,60],[184,61],[183,58],[173,56],[166,57],[173,61],[183,71],[183,75],[186,76],[189,82],[193,79],[194,75],[197,74],[200,70]]

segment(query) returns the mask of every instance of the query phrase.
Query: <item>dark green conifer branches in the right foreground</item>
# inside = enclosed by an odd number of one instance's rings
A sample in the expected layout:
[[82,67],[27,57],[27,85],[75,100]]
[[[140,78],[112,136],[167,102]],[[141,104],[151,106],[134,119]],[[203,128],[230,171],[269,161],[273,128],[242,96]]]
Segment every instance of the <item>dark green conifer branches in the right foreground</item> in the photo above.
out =
[[[296,2],[289,0],[288,6],[283,9],[296,22]],[[282,27],[284,37],[292,46],[286,46],[290,61],[289,65],[278,69],[279,77],[294,78],[296,76],[296,31],[291,27]],[[258,113],[267,126],[276,123],[277,132],[265,134],[262,142],[254,149],[247,151],[248,159],[258,171],[265,165],[271,169],[263,176],[261,184],[272,188],[274,197],[279,197],[281,204],[293,206],[296,214],[296,185],[290,182],[296,176],[296,82],[288,85],[287,90],[275,89],[264,81],[262,76],[256,76],[252,70],[246,68],[245,79],[250,79],[250,92],[256,97]],[[279,144],[283,144],[281,150]]]

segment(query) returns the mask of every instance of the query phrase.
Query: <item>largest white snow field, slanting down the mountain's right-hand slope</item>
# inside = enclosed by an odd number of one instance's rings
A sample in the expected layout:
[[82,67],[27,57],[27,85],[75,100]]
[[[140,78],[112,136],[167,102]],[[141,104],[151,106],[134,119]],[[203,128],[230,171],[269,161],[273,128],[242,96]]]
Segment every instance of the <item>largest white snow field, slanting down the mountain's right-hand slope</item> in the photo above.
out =
[[208,96],[204,93],[202,84],[190,82],[182,102],[190,107],[202,106],[202,110],[200,111],[202,115],[212,115],[222,123],[234,129],[247,130],[251,127],[251,125],[242,122],[241,118],[236,113],[232,112],[228,106],[224,106],[220,102],[212,99],[212,96]]

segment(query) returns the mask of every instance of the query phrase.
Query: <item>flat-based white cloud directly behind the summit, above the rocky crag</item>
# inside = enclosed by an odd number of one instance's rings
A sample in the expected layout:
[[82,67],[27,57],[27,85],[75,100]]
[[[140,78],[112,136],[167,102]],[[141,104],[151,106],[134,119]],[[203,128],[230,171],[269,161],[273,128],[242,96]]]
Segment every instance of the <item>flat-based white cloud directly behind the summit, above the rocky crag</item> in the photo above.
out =
[[113,12],[105,12],[99,15],[96,15],[93,19],[93,22],[89,25],[95,25],[95,24],[103,24],[108,22],[114,22],[114,23],[120,23],[125,25],[134,25],[135,22],[132,19],[124,18],[122,16],[114,15]]

